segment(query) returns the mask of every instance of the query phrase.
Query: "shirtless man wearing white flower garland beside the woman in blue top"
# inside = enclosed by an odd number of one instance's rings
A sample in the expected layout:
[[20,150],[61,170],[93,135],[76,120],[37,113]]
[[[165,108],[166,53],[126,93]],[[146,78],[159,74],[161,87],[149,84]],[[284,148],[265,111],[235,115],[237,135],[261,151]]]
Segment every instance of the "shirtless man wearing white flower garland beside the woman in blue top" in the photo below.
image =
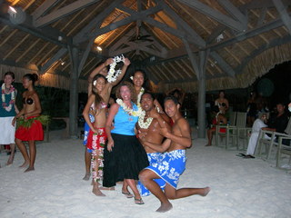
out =
[[[159,123],[165,126],[164,121],[166,121],[166,128],[170,130],[169,117],[166,114],[157,113],[154,99],[154,96],[150,93],[145,93],[141,96],[141,107],[146,112],[146,115],[140,116],[138,122],[136,123],[139,137],[143,138],[140,140],[141,144],[143,144],[144,141],[151,142],[153,144],[162,144],[164,135],[160,134],[161,125]],[[157,163],[161,153],[146,145],[144,145],[144,148],[146,150],[149,164],[152,165]],[[164,190],[166,185],[164,180],[157,179],[155,182]],[[147,196],[150,194],[143,183],[138,182],[137,188],[142,196]]]

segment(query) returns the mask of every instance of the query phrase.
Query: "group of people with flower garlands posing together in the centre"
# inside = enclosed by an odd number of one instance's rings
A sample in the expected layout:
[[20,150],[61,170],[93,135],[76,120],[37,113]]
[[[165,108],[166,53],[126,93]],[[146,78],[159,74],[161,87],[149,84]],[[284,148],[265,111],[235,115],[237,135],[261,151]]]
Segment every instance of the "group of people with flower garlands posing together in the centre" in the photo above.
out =
[[[193,194],[206,196],[205,188],[176,189],[179,176],[186,169],[186,148],[191,147],[190,126],[180,114],[180,104],[169,95],[162,106],[143,86],[146,74],[135,71],[132,83],[121,82],[116,88],[116,101],[107,109],[112,87],[118,84],[130,64],[114,74],[118,58],[109,58],[89,75],[85,117],[85,177],[92,169],[93,190],[115,190],[123,183],[122,193],[144,204],[142,196],[156,195],[161,205],[157,212],[172,208],[169,199]],[[110,69],[108,71],[108,66]],[[130,189],[129,189],[130,188]],[[131,190],[131,192],[129,191]]]

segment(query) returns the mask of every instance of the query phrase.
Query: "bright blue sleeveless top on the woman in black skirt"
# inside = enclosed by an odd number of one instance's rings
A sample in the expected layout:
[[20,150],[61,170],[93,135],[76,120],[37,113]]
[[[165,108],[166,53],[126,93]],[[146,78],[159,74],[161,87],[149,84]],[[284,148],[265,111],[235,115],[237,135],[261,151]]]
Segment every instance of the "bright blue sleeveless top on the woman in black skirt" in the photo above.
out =
[[[134,111],[137,111],[136,104],[133,104]],[[119,106],[115,114],[115,128],[111,130],[112,134],[135,135],[135,124],[138,116],[129,115],[122,106]]]

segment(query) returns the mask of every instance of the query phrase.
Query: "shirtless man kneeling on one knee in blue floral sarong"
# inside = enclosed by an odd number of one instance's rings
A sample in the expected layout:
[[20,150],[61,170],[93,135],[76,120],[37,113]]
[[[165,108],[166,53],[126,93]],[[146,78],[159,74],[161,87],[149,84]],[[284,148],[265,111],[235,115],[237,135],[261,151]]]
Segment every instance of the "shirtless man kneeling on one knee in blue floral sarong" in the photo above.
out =
[[[210,188],[182,188],[176,189],[180,175],[184,172],[186,166],[186,148],[191,147],[190,126],[186,119],[180,114],[180,105],[174,96],[166,97],[166,114],[172,119],[172,132],[169,132],[165,126],[162,126],[161,133],[166,137],[163,144],[153,144],[144,141],[148,147],[165,152],[163,159],[155,165],[146,167],[139,173],[140,181],[146,188],[158,198],[161,206],[156,212],[166,212],[172,209],[172,203],[169,199],[178,199],[194,194],[206,196]],[[154,179],[163,178],[166,181],[165,193],[161,190]]]

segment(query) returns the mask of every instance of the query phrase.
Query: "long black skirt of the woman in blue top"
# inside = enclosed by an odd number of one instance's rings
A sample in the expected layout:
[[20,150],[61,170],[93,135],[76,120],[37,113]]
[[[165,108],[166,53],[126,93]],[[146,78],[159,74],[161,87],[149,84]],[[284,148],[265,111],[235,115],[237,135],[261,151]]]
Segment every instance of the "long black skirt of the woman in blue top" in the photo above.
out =
[[138,180],[138,173],[149,165],[146,151],[135,135],[111,134],[112,152],[104,150],[103,186],[112,187],[124,179]]

